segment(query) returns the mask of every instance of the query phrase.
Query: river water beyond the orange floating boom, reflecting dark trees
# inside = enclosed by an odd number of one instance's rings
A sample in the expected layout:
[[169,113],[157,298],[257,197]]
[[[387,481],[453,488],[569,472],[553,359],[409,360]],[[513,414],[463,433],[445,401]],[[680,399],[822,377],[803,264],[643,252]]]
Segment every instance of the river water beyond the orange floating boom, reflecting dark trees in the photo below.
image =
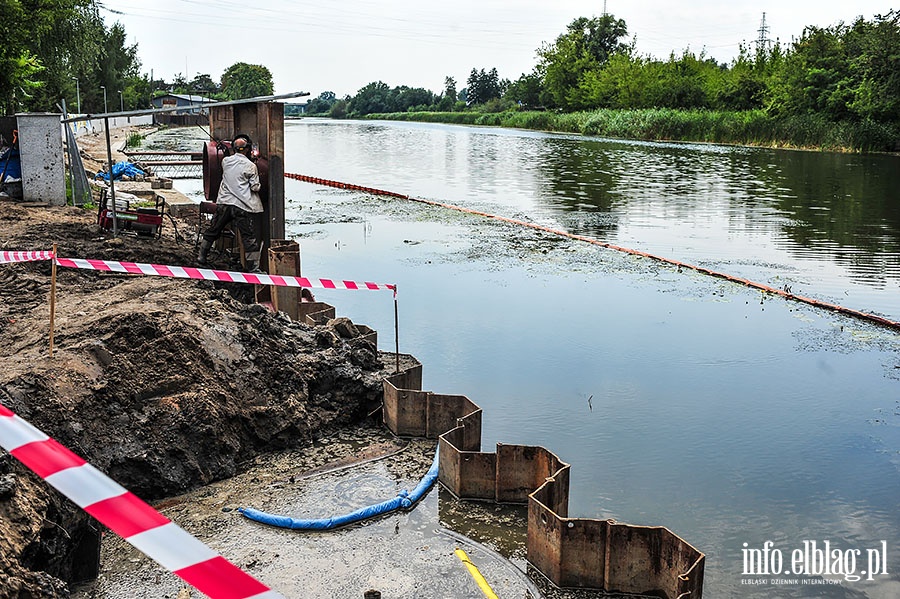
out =
[[525,217],[900,317],[900,158],[289,123],[287,170]]

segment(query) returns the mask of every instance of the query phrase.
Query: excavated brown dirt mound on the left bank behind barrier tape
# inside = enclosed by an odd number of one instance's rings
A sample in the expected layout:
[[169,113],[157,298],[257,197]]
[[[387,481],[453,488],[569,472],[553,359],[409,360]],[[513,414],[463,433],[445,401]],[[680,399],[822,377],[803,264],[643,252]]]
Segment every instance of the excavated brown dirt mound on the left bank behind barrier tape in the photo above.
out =
[[[0,199],[0,247],[193,263],[170,229],[111,239],[94,219]],[[144,499],[234,475],[380,402],[368,341],[240,301],[238,285],[60,268],[51,358],[50,273],[49,262],[0,265],[0,403]],[[100,527],[0,456],[0,599],[67,596],[61,581],[96,571]]]

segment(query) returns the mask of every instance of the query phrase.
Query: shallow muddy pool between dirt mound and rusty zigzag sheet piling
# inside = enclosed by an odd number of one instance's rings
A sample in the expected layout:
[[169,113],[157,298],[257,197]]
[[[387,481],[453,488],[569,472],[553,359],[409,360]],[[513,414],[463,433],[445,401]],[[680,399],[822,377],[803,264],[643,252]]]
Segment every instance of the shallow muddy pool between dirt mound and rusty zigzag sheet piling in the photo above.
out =
[[[344,514],[411,490],[431,465],[435,446],[395,439],[380,427],[350,429],[308,450],[261,457],[240,476],[155,507],[285,597],[362,597],[368,589],[385,598],[483,597],[454,554],[458,547],[499,596],[533,596],[520,569],[524,507],[459,502],[435,487],[411,511],[312,533],[266,526],[236,510],[255,507],[300,518]],[[498,547],[505,555],[445,527],[457,522],[465,523],[462,532],[496,529],[498,535],[483,540],[508,539]],[[73,598],[176,597],[183,587],[114,535],[104,537],[102,564],[98,580]]]

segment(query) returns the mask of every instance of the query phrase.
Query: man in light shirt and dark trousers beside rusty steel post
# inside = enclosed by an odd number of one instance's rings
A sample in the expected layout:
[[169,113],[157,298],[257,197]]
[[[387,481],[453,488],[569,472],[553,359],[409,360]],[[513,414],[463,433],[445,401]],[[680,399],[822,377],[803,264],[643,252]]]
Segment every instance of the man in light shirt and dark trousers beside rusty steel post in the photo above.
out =
[[231,142],[232,154],[222,159],[222,184],[216,198],[216,213],[212,223],[203,233],[197,262],[206,266],[212,244],[222,230],[232,224],[241,233],[244,259],[249,272],[259,270],[259,241],[253,230],[253,215],[263,211],[259,197],[259,171],[250,160],[253,144],[250,137],[241,133]]

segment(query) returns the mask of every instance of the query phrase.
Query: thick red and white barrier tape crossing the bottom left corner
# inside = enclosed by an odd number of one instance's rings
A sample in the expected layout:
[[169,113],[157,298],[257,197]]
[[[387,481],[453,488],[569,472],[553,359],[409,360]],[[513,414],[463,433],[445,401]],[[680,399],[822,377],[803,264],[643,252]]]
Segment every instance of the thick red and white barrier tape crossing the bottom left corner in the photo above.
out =
[[114,533],[212,599],[283,599],[3,404],[0,446]]

